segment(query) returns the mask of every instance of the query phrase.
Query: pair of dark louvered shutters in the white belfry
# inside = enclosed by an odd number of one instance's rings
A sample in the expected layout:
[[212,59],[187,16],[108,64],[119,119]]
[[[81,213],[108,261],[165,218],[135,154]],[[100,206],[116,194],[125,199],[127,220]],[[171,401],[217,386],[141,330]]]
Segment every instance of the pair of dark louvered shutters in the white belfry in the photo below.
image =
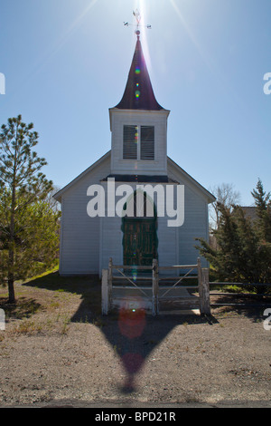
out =
[[154,160],[154,126],[124,126],[123,158]]

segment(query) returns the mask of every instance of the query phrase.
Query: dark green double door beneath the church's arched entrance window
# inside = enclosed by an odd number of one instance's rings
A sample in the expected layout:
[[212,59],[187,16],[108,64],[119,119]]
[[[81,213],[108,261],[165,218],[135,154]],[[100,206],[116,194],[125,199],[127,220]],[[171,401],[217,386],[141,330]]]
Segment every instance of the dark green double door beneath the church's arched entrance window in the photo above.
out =
[[123,223],[124,265],[151,266],[157,258],[154,218],[125,218]]

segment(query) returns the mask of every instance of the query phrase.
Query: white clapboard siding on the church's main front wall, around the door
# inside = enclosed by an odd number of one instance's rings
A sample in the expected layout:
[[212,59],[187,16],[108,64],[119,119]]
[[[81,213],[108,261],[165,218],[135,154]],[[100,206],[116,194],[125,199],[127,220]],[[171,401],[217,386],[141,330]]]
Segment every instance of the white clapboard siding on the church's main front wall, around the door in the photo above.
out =
[[[112,173],[110,157],[108,152],[56,195],[62,203],[61,275],[100,274],[109,257],[115,265],[123,264],[121,218],[108,218],[107,209],[105,218],[89,218],[87,214],[87,190]],[[192,265],[199,257],[195,238],[208,239],[208,203],[214,198],[173,160],[167,160],[167,169],[170,178],[184,185],[184,223],[179,228],[168,227],[169,218],[157,218],[159,265]],[[135,183],[130,185],[135,189]],[[103,186],[107,194],[107,184]]]

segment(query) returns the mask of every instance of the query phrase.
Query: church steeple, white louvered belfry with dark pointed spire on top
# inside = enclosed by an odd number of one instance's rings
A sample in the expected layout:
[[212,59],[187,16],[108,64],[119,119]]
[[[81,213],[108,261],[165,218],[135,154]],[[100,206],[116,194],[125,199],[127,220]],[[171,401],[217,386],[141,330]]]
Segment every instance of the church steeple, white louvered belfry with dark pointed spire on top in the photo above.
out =
[[166,177],[170,111],[155,99],[138,29],[135,34],[135,53],[125,92],[116,107],[109,108],[111,175]]

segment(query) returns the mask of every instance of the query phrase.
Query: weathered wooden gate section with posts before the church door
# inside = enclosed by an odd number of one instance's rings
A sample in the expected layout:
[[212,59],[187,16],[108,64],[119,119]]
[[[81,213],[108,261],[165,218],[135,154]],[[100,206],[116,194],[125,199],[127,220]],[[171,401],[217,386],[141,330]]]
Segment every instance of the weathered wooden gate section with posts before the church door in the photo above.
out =
[[[149,276],[135,276],[130,274],[133,272],[150,271]],[[126,271],[128,270],[128,274]],[[176,271],[176,276],[161,276],[161,271],[164,273],[166,270]],[[179,271],[185,270],[184,274],[180,276]],[[113,271],[117,271],[114,272]],[[195,271],[193,275],[192,271]],[[197,286],[183,286],[183,280],[193,278],[198,280]],[[116,285],[116,282],[122,282],[121,285]],[[128,285],[125,284],[125,281]],[[138,281],[145,281],[148,285],[139,285]],[[167,281],[167,286],[160,285],[161,282]],[[173,281],[171,283],[171,281]],[[178,288],[182,289],[197,289],[199,296],[192,295],[191,297],[184,298],[183,295],[169,295],[169,293]],[[152,310],[153,315],[159,314],[159,302],[164,301],[178,301],[180,306],[185,304],[192,305],[192,307],[200,308],[201,314],[210,315],[210,292],[209,292],[209,269],[201,267],[201,259],[199,258],[195,265],[174,265],[174,266],[159,266],[158,261],[153,259],[152,266],[124,266],[114,265],[112,258],[109,259],[108,269],[102,271],[102,314],[107,313],[114,305],[119,303],[120,296],[117,296],[117,290],[122,289],[138,290],[143,295],[145,305]],[[132,297],[131,297],[132,299]]]

